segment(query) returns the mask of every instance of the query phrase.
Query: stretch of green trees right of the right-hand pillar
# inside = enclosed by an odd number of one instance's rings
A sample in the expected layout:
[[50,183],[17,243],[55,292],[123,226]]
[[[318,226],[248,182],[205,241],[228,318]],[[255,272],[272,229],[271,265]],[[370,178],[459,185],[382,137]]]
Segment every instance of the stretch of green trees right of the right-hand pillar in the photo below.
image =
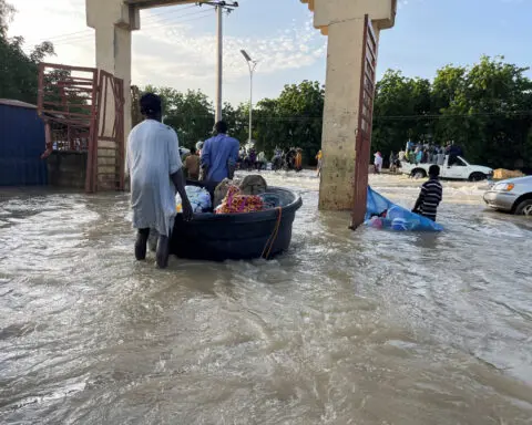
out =
[[388,71],[377,84],[374,149],[416,142],[461,145],[471,162],[532,167],[532,82],[528,69],[482,56],[470,68],[448,65],[432,83]]

